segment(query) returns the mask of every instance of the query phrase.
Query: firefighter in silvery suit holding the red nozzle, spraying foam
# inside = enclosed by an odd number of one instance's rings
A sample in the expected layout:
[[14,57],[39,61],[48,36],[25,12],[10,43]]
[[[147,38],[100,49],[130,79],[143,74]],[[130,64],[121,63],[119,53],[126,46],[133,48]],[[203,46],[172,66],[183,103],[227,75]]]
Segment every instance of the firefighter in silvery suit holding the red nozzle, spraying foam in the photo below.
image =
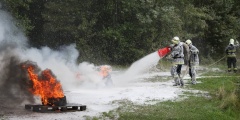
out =
[[180,42],[179,37],[174,37],[172,40],[171,53],[170,57],[172,58],[172,67],[171,67],[171,75],[174,79],[173,86],[183,86],[183,80],[181,79],[181,69],[182,65],[184,64],[184,49],[183,49],[183,42]]

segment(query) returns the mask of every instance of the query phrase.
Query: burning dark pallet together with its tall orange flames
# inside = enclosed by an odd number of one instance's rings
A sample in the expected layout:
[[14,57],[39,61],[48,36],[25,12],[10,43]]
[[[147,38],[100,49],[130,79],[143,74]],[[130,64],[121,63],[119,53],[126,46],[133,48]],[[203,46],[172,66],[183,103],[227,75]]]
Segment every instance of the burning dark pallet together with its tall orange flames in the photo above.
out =
[[[50,69],[41,71],[37,65],[26,62],[23,68],[27,70],[29,76],[30,92],[40,96],[42,105],[26,104],[25,109],[34,112],[67,112],[83,111],[86,105],[68,104],[66,96],[62,90],[62,85],[53,75]],[[40,72],[41,71],[41,72]]]

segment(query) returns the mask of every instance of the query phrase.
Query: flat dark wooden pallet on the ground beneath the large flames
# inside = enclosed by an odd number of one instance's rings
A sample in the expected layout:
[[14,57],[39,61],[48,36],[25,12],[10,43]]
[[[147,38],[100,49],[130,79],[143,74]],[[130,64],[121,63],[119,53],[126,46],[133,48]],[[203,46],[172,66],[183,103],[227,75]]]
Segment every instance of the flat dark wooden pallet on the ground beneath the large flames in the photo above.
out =
[[25,109],[31,110],[33,112],[74,112],[74,111],[84,111],[87,109],[86,105],[66,105],[66,106],[45,106],[45,105],[31,105],[26,104]]

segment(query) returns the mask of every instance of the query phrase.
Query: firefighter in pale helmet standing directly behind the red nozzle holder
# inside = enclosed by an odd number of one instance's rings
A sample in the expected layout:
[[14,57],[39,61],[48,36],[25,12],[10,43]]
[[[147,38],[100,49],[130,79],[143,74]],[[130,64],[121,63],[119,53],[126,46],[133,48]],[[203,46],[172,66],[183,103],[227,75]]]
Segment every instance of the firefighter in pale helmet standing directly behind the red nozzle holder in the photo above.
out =
[[192,84],[196,84],[196,67],[199,65],[199,57],[198,53],[199,50],[192,44],[191,40],[186,40],[185,42],[189,47],[189,59],[188,59],[188,66],[189,66],[189,75],[192,80]]

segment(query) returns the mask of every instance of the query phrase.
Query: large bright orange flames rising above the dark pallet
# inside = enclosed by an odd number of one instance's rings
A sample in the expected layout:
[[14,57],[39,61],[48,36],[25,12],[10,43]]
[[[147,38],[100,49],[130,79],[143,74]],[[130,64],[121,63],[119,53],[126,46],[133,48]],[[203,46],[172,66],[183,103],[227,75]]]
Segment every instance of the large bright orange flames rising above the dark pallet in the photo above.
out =
[[49,103],[49,99],[61,99],[64,97],[62,86],[59,81],[52,75],[51,70],[46,69],[41,72],[41,77],[35,74],[35,67],[30,65],[27,66],[27,73],[30,80],[33,83],[33,87],[30,91],[42,99],[43,105],[52,104]]

